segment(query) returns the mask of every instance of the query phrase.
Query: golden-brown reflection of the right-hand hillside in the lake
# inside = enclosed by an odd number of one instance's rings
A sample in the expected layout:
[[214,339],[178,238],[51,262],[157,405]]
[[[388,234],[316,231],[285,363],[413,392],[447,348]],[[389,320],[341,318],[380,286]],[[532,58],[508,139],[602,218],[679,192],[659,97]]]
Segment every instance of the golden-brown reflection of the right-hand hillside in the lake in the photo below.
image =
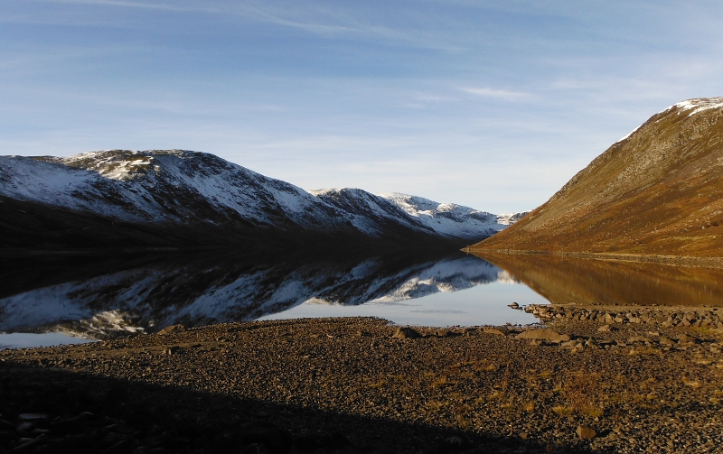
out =
[[723,305],[723,270],[555,255],[480,255],[555,304]]

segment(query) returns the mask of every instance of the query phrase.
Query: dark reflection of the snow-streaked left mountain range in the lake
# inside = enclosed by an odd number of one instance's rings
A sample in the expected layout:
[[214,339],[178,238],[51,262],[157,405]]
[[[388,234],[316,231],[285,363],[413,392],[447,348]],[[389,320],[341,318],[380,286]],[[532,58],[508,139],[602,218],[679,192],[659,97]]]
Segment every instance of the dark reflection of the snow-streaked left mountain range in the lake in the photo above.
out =
[[305,301],[403,301],[491,283],[501,273],[461,253],[26,258],[0,269],[7,283],[0,331],[113,338],[175,323],[256,320]]

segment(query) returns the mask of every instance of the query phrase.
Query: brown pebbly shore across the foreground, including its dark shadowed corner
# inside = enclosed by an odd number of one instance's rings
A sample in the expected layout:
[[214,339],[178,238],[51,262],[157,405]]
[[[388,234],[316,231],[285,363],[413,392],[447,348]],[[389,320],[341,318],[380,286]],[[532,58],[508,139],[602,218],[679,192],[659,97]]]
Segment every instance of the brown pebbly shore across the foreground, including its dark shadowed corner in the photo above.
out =
[[0,452],[720,452],[716,311],[615,308],[527,308],[544,327],[283,320],[4,350]]

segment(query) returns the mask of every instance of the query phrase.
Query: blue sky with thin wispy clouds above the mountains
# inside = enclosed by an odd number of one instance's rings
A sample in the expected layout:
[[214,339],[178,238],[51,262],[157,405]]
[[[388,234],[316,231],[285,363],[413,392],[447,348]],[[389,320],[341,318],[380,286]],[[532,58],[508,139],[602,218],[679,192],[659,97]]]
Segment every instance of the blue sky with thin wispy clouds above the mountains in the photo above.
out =
[[716,96],[718,0],[0,2],[0,154],[179,148],[502,213]]

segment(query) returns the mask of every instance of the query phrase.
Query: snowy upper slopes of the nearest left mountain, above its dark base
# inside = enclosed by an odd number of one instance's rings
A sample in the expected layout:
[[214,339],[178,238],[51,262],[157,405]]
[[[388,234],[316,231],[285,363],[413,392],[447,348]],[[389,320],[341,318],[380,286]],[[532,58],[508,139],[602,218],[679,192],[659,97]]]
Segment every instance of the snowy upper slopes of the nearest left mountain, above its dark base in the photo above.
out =
[[182,150],[0,156],[0,194],[128,222],[343,225],[336,210],[286,181]]

